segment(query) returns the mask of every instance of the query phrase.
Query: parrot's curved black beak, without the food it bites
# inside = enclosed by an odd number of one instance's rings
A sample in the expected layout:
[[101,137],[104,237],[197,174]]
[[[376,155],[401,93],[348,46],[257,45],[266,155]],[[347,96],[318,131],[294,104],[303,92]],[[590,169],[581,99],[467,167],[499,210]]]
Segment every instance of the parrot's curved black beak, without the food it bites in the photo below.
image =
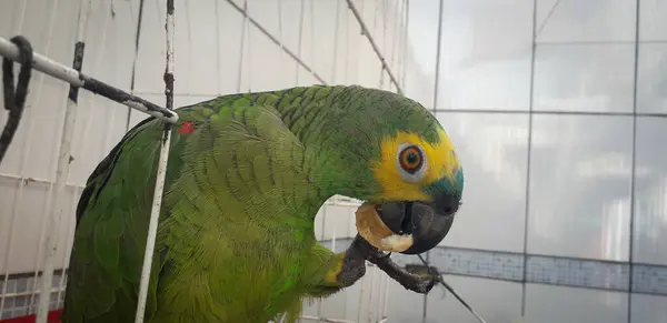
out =
[[454,223],[460,195],[441,193],[434,201],[396,201],[376,205],[380,219],[396,234],[412,234],[404,254],[427,252],[440,243]]

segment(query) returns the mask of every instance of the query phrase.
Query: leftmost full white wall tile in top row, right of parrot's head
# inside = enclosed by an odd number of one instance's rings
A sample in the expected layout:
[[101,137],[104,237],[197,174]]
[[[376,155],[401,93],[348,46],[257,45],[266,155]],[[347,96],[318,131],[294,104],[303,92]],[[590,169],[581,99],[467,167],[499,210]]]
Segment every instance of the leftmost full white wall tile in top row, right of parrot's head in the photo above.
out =
[[444,1],[438,108],[528,110],[532,2]]

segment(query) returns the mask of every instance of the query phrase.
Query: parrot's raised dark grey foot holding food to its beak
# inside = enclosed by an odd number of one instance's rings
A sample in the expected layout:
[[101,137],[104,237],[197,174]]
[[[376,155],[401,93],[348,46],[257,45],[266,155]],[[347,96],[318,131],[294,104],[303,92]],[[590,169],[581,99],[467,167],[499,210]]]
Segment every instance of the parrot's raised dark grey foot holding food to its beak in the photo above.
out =
[[381,250],[372,246],[359,234],[357,234],[349,249],[354,249],[362,254],[368,262],[377,265],[392,280],[401,284],[406,290],[410,290],[419,294],[428,294],[428,292],[430,292],[430,290],[439,280],[432,275],[418,275],[407,271],[391,260],[390,253],[385,253]]

